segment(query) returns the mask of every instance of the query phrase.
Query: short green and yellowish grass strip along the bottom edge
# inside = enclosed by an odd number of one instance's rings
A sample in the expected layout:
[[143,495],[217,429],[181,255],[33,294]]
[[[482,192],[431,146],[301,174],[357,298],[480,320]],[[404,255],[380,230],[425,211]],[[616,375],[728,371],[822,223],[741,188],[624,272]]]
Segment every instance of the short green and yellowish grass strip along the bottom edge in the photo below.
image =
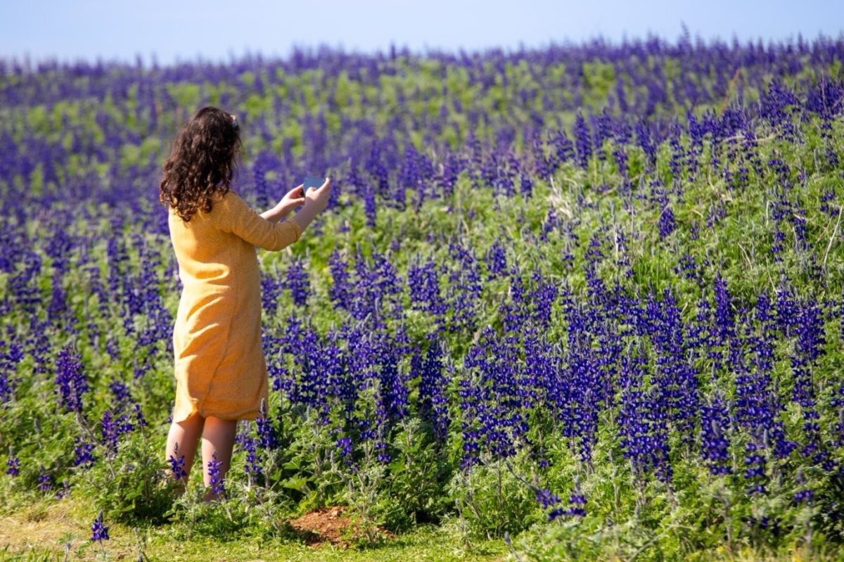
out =
[[[506,544],[501,540],[473,541],[464,544],[456,527],[419,526],[413,532],[398,535],[367,547],[334,546],[322,543],[309,546],[299,538],[262,538],[245,536],[219,539],[193,535],[184,539],[183,525],[127,527],[118,523],[109,527],[109,540],[92,543],[91,522],[95,512],[87,500],[66,498],[41,500],[0,516],[0,560],[137,560],[143,554],[149,560],[169,562],[209,562],[212,560],[302,560],[328,562],[349,560],[437,560],[448,562],[504,560]],[[137,530],[136,530],[137,529]],[[144,540],[145,539],[145,540]],[[69,546],[68,546],[69,545]],[[67,554],[67,558],[65,558]]]

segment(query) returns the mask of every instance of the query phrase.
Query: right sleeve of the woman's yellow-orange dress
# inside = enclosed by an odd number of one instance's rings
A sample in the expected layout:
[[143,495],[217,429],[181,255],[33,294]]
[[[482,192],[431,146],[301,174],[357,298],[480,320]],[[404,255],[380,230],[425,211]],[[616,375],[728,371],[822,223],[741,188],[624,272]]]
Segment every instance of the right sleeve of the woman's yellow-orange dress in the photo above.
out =
[[283,250],[302,235],[293,219],[273,223],[256,213],[235,192],[228,192],[220,203],[219,228],[240,236],[254,246],[269,251]]

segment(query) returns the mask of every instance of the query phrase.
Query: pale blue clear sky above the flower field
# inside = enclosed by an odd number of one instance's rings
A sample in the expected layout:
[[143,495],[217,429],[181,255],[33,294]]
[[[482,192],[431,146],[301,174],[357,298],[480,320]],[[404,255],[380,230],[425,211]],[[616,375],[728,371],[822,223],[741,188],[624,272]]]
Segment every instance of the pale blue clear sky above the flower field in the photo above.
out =
[[844,33],[844,2],[825,0],[7,0],[0,58],[227,62],[246,54],[286,57],[295,46],[389,51],[391,45],[483,51],[544,47],[597,37],[658,35],[685,25],[705,41],[796,41]]

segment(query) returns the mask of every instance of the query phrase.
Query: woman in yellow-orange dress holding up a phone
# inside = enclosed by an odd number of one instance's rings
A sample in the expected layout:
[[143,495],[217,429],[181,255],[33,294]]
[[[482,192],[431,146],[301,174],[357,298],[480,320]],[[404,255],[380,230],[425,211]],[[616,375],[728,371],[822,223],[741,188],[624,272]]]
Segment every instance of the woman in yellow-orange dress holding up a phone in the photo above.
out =
[[[197,111],[173,143],[160,182],[183,285],[173,328],[176,403],[166,450],[168,472],[181,479],[182,489],[200,435],[208,487],[209,467],[219,467],[220,481],[229,469],[237,421],[257,418],[262,401],[268,403],[256,246],[279,251],[299,240],[331,195],[330,179],[307,192],[296,186],[257,214],[230,191],[242,146],[238,129],[235,116],[216,107]],[[205,500],[219,495],[209,490]]]

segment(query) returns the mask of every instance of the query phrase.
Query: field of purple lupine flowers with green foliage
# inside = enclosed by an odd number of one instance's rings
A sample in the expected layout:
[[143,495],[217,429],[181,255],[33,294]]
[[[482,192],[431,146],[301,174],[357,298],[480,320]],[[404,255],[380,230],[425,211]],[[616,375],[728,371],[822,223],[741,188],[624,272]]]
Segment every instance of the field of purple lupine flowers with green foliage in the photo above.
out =
[[[832,557],[842,80],[824,37],[0,60],[0,493],[88,499],[100,542],[347,505],[369,538],[448,523],[521,560]],[[164,478],[157,202],[203,105],[241,119],[256,208],[335,183],[258,254],[271,398],[210,506]]]

